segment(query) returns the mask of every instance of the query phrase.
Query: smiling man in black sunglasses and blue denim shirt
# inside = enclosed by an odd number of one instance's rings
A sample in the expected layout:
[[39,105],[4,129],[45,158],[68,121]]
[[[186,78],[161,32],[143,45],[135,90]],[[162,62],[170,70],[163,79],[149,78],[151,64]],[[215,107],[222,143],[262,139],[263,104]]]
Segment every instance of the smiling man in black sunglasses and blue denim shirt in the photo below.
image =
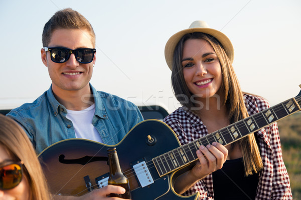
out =
[[[89,83],[96,61],[95,33],[79,12],[71,8],[56,12],[44,26],[42,41],[41,57],[52,84],[34,102],[7,114],[25,129],[37,153],[75,137],[113,145],[143,120],[136,105],[96,91]],[[101,199],[122,189],[110,185],[84,197]],[[63,199],[67,198],[73,197]]]

